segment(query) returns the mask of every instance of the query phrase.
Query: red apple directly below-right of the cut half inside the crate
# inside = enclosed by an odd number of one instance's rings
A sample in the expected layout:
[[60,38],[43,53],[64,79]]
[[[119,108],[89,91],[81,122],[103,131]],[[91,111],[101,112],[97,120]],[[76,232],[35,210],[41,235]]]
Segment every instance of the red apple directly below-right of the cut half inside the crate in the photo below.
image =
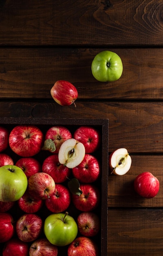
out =
[[99,161],[90,154],[84,156],[83,161],[72,169],[73,176],[81,183],[91,183],[100,174]]

